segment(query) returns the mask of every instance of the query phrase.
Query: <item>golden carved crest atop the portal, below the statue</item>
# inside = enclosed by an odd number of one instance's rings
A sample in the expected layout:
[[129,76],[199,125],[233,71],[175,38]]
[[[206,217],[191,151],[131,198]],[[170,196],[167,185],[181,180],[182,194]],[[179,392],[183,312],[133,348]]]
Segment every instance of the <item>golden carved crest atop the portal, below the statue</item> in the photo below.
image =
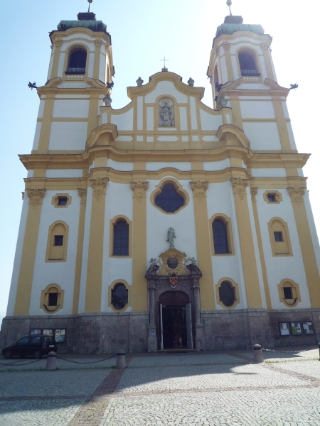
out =
[[186,253],[181,253],[176,249],[169,249],[159,256],[160,269],[156,275],[190,275],[191,272],[186,268]]

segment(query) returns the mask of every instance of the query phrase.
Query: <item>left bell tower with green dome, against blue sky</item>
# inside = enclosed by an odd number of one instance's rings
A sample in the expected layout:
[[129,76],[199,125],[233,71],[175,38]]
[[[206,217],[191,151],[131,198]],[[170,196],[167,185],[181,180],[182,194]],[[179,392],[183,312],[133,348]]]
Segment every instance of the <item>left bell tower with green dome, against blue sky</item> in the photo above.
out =
[[50,40],[48,81],[38,87],[33,153],[83,152],[114,75],[111,37],[89,6],[78,20],[60,21]]

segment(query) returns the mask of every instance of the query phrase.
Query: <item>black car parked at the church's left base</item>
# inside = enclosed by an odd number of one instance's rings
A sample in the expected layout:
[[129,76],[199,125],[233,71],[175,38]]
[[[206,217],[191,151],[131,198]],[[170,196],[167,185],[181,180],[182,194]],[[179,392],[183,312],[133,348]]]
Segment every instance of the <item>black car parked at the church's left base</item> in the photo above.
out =
[[18,340],[14,344],[7,344],[2,349],[4,358],[12,358],[12,356],[34,356],[39,359],[43,355],[48,355],[50,351],[57,351],[57,343],[53,336],[26,336]]

